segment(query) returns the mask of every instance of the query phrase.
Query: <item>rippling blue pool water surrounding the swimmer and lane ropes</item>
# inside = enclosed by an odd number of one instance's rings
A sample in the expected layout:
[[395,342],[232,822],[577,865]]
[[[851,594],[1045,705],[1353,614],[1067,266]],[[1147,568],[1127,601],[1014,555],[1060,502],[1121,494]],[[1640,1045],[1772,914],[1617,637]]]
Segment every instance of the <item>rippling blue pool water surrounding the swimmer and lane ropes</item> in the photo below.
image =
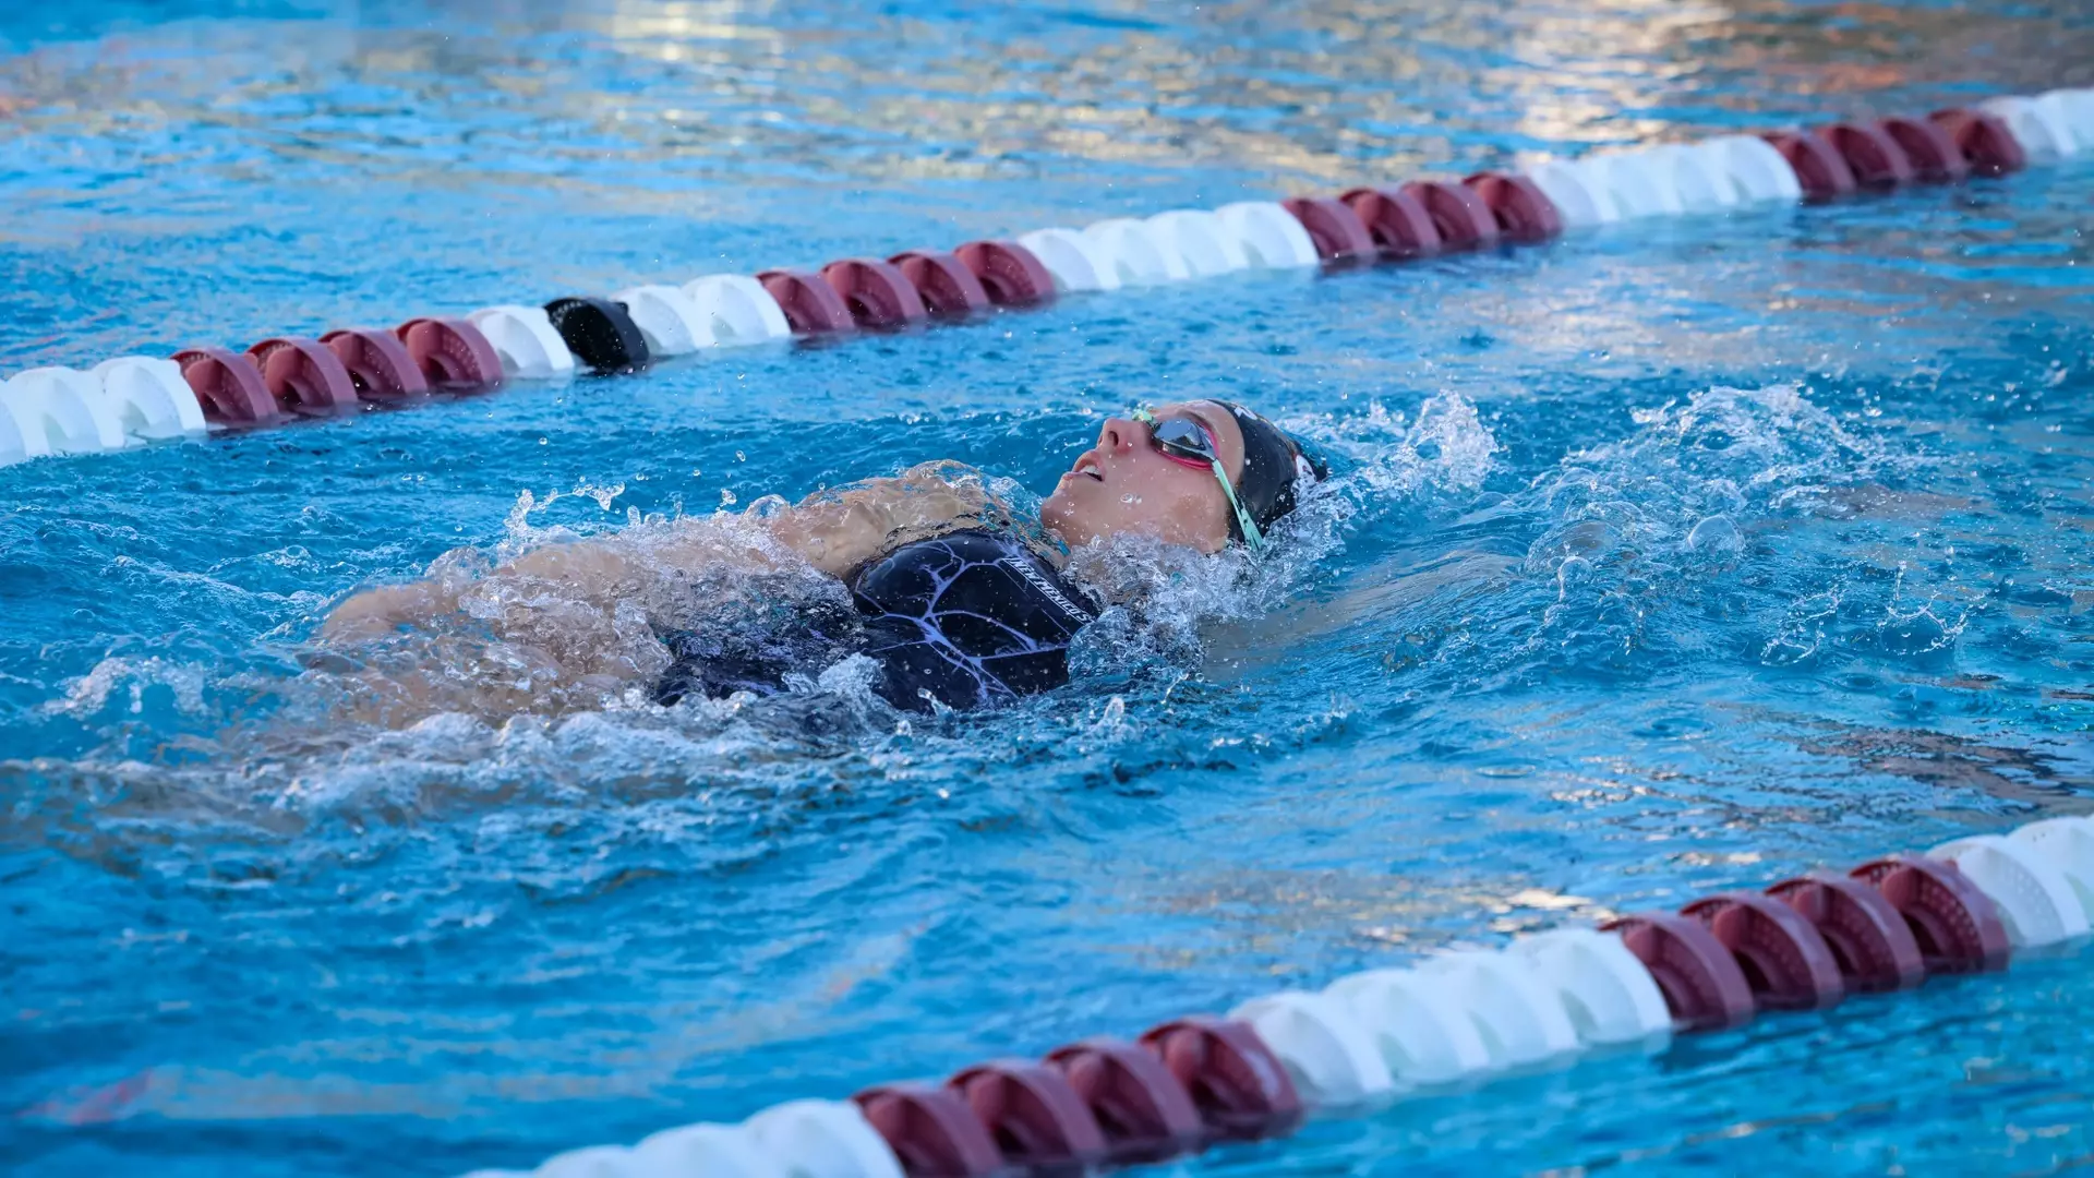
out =
[[[2069,0],[42,8],[0,13],[0,371],[2094,84]],[[0,1168],[530,1165],[2090,811],[2090,191],[0,470]],[[1150,623],[1003,713],[387,704],[312,641],[360,585],[913,461],[1043,493],[1168,396],[1346,474],[1269,568],[1139,566]],[[630,618],[534,637],[645,658]],[[482,654],[392,658],[486,696]],[[2084,1165],[2086,960],[1179,1172]]]

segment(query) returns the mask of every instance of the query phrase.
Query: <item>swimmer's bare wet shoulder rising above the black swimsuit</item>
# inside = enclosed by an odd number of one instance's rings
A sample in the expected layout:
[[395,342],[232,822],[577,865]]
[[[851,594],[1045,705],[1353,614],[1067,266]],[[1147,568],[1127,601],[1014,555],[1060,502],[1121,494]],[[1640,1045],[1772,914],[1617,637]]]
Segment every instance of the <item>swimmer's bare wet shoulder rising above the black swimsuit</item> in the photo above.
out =
[[879,555],[888,537],[978,518],[988,507],[980,478],[951,463],[923,463],[900,478],[871,478],[840,493],[808,495],[766,522],[771,537],[829,576]]

